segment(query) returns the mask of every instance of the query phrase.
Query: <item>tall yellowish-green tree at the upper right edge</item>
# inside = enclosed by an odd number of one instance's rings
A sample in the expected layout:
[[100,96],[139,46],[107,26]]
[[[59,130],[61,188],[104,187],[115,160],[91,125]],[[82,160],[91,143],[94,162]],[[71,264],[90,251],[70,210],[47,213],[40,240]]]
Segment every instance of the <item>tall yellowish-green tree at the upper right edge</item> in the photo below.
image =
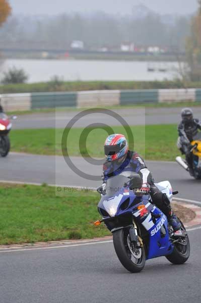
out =
[[190,36],[186,40],[187,62],[190,79],[201,80],[201,0],[198,0],[197,14],[192,18]]

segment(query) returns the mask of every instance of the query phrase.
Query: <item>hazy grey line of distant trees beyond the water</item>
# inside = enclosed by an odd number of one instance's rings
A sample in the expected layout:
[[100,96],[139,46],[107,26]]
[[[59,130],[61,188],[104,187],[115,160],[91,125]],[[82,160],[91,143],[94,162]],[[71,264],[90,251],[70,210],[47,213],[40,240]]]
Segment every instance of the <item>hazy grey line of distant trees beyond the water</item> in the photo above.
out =
[[115,16],[104,12],[62,14],[58,16],[12,16],[0,31],[0,40],[7,45],[23,44],[26,48],[68,49],[73,40],[84,42],[86,49],[107,47],[119,49],[122,42],[136,46],[172,45],[184,52],[190,31],[190,17],[149,13],[137,18],[132,14]]

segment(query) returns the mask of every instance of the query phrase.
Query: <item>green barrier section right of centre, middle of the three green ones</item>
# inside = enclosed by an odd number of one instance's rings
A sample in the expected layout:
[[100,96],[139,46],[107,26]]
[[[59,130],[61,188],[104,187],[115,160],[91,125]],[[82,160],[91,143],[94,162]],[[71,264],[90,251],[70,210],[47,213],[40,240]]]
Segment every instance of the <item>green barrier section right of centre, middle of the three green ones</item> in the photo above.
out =
[[158,89],[121,90],[120,105],[158,103]]

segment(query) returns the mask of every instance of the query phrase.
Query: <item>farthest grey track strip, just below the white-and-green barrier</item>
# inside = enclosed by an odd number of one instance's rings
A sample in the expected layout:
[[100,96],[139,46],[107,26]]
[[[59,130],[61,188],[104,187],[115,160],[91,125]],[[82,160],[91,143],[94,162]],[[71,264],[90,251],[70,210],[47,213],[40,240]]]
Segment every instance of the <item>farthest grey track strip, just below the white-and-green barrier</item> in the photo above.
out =
[[[180,120],[181,108],[128,108],[113,110],[120,115],[129,125],[173,124]],[[201,117],[201,107],[195,107],[196,117]],[[79,111],[56,111],[56,113],[34,113],[19,115],[13,120],[13,129],[33,128],[64,128],[70,121],[75,121]],[[74,127],[86,127],[91,123],[105,123],[107,125],[119,125],[116,118],[108,114],[91,114],[80,119]]]

